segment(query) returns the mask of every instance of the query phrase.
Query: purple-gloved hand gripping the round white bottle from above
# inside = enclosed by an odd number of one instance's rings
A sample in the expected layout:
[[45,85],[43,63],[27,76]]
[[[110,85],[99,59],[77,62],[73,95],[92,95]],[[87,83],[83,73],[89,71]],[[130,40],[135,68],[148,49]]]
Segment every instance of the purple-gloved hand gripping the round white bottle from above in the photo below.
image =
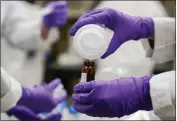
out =
[[129,16],[104,8],[84,13],[71,28],[70,35],[74,36],[79,28],[87,24],[104,24],[114,31],[108,50],[101,57],[102,59],[114,53],[124,42],[148,38],[154,33],[152,18]]

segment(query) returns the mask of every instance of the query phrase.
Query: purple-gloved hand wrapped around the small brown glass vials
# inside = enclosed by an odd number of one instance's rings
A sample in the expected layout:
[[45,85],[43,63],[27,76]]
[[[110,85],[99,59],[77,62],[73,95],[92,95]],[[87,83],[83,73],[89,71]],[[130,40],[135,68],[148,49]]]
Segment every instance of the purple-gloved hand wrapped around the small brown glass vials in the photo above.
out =
[[79,83],[72,98],[78,112],[93,117],[122,117],[138,110],[152,110],[151,77],[120,78]]

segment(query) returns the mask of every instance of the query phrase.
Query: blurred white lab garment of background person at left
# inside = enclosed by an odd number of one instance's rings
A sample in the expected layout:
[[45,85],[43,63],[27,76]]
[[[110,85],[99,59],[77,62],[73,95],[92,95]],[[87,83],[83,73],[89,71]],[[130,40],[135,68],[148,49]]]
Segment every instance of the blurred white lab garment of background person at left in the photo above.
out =
[[[25,1],[1,1],[1,65],[23,86],[40,84],[44,52],[58,38],[51,29],[45,42],[40,38],[45,10]],[[36,56],[27,58],[28,51]]]

